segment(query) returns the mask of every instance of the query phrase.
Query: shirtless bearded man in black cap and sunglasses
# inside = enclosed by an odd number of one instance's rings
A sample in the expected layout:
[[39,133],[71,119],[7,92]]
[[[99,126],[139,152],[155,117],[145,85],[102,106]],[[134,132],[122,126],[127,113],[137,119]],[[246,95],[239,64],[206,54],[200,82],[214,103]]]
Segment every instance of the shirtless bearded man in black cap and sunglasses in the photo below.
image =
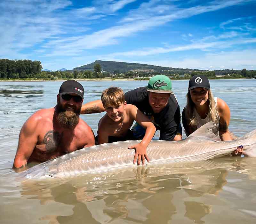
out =
[[95,145],[92,129],[79,117],[83,99],[84,88],[80,83],[62,83],[57,105],[36,111],[23,124],[13,168]]

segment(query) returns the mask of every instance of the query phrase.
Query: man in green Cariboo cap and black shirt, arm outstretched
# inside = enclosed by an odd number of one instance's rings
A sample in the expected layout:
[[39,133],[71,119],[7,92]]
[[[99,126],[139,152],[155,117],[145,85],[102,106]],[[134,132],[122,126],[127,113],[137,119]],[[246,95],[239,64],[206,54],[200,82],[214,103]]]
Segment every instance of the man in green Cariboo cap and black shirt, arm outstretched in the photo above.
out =
[[[133,104],[148,116],[160,131],[160,140],[181,140],[180,106],[172,92],[171,80],[164,75],[152,77],[148,86],[139,87],[125,93],[127,104]],[[100,113],[105,111],[100,100],[86,103],[81,114]],[[142,139],[145,129],[138,123],[132,127],[134,138]]]

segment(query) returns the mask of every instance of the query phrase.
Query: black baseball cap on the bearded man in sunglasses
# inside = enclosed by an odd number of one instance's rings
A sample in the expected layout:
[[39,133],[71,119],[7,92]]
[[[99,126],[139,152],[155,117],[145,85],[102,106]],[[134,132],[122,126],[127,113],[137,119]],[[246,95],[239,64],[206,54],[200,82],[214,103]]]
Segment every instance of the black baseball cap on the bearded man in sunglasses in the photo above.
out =
[[61,84],[59,95],[74,93],[84,99],[84,87],[75,80],[67,80]]

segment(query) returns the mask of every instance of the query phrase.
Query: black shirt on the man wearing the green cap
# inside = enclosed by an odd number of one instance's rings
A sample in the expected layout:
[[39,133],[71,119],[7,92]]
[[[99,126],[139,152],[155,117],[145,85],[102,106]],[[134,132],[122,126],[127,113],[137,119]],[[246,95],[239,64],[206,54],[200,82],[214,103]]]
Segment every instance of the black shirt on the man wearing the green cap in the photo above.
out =
[[156,130],[160,131],[160,140],[172,141],[175,135],[182,133],[180,125],[180,106],[174,94],[170,95],[166,107],[154,113],[148,102],[147,87],[140,87],[125,93],[127,104],[133,104],[146,116],[153,116]]

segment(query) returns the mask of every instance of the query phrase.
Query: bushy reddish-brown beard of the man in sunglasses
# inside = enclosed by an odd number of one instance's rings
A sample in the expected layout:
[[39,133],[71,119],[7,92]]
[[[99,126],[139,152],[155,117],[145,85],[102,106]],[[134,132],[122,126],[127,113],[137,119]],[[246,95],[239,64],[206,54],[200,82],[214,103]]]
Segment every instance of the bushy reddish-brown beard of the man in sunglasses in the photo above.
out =
[[74,129],[79,122],[79,115],[82,105],[75,109],[74,112],[66,110],[59,102],[57,102],[57,119],[62,128]]

